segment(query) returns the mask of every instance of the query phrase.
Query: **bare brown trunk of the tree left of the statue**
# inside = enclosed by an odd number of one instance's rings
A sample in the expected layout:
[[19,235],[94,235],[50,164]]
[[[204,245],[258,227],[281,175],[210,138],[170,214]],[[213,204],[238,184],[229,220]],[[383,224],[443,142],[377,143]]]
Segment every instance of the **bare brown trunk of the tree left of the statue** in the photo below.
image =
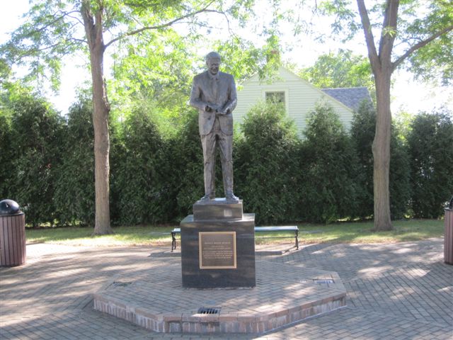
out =
[[88,47],[90,50],[91,78],[93,80],[93,128],[94,128],[94,186],[96,192],[96,216],[93,235],[112,234],[110,227],[110,189],[107,89],[103,77],[105,45],[103,42],[103,7],[96,9],[96,23],[88,0],[82,1],[81,13]]

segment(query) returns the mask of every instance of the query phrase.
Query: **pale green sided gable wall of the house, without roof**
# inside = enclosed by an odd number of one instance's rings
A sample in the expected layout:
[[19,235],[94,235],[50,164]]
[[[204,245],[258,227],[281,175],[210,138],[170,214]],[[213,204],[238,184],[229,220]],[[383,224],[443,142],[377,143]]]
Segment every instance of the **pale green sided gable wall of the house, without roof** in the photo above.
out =
[[265,101],[266,92],[285,93],[286,112],[289,118],[294,120],[300,134],[306,128],[309,113],[320,101],[326,101],[331,105],[340,116],[340,121],[345,125],[345,128],[350,128],[353,113],[351,108],[284,67],[278,69],[277,77],[270,84],[266,81],[260,81],[258,75],[243,82],[242,89],[238,91],[238,103],[234,110],[235,123],[241,124],[246,113],[256,103]]

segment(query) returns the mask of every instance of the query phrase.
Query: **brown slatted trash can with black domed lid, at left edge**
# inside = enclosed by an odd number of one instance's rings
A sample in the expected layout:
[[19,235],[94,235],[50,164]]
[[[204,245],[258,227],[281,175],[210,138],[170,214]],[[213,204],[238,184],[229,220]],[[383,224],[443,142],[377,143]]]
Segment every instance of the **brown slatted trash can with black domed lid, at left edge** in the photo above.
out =
[[25,256],[25,214],[13,200],[1,200],[0,266],[21,266]]

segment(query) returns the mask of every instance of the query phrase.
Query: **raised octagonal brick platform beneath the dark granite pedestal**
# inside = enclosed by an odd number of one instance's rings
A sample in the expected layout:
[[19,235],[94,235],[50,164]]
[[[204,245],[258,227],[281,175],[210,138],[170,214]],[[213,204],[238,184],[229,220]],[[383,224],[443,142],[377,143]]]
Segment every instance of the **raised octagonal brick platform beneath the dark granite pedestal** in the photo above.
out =
[[159,263],[151,260],[132,276],[115,277],[94,294],[94,308],[151,331],[223,339],[273,331],[346,305],[337,273],[301,264],[258,260],[256,287],[203,290],[183,288],[178,259]]

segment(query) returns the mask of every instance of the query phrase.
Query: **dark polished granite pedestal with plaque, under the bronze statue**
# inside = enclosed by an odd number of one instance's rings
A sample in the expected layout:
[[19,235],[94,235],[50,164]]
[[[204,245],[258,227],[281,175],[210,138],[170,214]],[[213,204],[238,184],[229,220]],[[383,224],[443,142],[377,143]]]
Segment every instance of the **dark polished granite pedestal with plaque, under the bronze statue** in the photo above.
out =
[[255,215],[224,198],[198,201],[193,212],[180,222],[183,287],[254,287]]

